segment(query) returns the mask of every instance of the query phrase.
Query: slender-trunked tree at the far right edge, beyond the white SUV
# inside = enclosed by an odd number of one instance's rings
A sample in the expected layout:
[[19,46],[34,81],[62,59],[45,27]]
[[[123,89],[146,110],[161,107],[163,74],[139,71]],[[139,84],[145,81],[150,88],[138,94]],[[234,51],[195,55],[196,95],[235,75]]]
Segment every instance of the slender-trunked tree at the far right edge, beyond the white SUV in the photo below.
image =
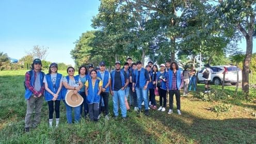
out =
[[245,98],[249,97],[249,67],[252,57],[253,34],[255,32],[256,1],[254,0],[233,0],[220,1],[219,22],[222,22],[234,39],[242,39],[241,34],[246,40],[246,54],[242,70],[242,89]]

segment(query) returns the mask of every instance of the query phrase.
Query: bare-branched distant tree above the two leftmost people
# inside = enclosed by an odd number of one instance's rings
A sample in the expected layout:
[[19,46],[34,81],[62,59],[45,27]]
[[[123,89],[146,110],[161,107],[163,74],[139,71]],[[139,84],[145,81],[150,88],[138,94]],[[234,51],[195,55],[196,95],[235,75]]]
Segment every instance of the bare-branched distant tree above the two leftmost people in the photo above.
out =
[[27,53],[27,55],[32,56],[34,59],[38,58],[40,60],[45,60],[45,58],[48,55],[48,53],[47,53],[48,49],[49,49],[49,47],[35,45],[33,47],[33,49],[31,49],[29,51],[25,51],[25,52]]

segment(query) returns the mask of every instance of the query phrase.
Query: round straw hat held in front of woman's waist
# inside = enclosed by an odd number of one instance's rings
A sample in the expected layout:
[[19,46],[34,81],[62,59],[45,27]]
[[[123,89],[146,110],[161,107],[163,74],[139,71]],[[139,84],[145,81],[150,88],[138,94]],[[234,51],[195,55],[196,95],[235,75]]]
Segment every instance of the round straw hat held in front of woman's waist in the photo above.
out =
[[69,90],[66,94],[65,101],[69,106],[77,107],[83,103],[84,99],[79,93],[74,94],[74,90]]

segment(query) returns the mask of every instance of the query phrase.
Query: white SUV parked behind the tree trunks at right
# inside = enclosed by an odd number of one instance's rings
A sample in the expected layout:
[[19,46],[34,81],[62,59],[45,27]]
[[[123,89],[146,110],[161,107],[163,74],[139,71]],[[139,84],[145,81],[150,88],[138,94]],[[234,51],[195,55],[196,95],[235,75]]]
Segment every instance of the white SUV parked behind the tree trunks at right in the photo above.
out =
[[[213,70],[212,76],[211,76],[211,82],[213,82],[215,85],[221,84],[223,80],[223,71],[224,66],[227,67],[228,71],[225,75],[225,83],[231,83],[232,85],[236,85],[237,82],[237,76],[236,76],[236,66],[232,65],[217,65],[217,66],[211,66],[211,69]],[[203,68],[204,69],[204,68]],[[202,70],[198,72],[198,82],[203,82],[203,74]],[[238,81],[242,82],[242,70],[238,68]]]

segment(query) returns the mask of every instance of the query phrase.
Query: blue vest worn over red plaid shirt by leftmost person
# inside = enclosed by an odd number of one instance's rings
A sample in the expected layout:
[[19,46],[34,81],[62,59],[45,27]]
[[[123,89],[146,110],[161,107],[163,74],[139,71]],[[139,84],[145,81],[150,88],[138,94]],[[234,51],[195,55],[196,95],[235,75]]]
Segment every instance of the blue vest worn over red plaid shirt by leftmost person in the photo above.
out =
[[[35,71],[30,70],[30,72],[28,71],[28,73],[32,74],[32,75],[30,75],[30,86],[34,87],[35,80],[36,80],[35,79]],[[43,86],[43,77],[44,76],[45,76],[45,74],[42,71],[39,71],[39,78],[40,78],[41,86]],[[32,94],[33,94],[33,92],[31,92],[28,88],[25,89],[25,99],[29,99]]]

